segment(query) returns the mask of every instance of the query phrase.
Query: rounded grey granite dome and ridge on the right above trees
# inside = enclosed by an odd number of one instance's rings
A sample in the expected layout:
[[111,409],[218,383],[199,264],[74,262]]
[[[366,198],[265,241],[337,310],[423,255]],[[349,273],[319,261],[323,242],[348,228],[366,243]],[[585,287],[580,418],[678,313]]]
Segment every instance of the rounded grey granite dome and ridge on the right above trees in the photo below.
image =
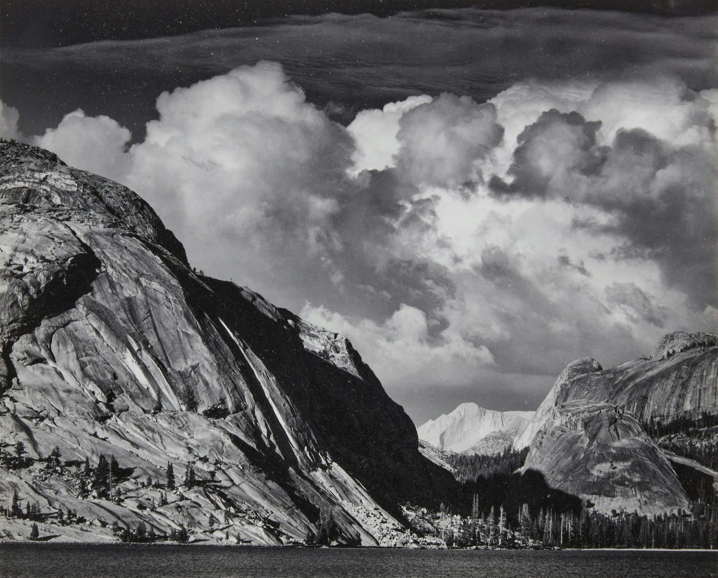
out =
[[704,414],[718,414],[718,338],[673,332],[650,358],[569,364],[514,447],[530,448],[524,470],[604,511],[675,511],[688,498],[644,426]]

